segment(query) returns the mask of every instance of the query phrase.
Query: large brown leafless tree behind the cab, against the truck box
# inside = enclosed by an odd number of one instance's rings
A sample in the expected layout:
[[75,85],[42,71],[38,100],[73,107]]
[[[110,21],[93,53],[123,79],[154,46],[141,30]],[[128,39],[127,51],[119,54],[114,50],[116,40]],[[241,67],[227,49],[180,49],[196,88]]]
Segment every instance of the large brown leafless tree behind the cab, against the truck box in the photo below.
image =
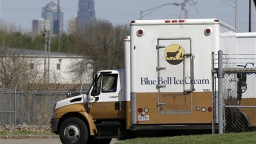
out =
[[87,71],[88,64],[91,64],[94,71],[123,68],[123,38],[128,34],[127,25],[105,25],[105,21],[92,23],[75,35],[74,47],[85,60],[76,63],[73,70],[76,70],[78,75],[83,74]]

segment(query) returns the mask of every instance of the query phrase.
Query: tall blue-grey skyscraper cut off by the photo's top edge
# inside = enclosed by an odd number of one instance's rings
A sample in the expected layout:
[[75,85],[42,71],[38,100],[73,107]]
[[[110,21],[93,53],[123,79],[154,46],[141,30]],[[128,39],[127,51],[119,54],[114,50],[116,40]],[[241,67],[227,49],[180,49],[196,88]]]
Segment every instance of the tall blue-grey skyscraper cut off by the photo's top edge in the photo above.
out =
[[87,25],[95,22],[94,0],[79,0],[77,11],[77,28],[85,29]]

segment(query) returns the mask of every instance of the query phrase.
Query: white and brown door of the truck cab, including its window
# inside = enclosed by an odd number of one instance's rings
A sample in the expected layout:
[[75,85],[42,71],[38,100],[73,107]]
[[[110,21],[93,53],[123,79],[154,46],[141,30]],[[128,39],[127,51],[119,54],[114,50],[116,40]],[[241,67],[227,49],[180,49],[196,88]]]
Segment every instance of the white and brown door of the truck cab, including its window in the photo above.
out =
[[93,119],[120,118],[120,79],[118,73],[100,73],[92,86],[88,112]]

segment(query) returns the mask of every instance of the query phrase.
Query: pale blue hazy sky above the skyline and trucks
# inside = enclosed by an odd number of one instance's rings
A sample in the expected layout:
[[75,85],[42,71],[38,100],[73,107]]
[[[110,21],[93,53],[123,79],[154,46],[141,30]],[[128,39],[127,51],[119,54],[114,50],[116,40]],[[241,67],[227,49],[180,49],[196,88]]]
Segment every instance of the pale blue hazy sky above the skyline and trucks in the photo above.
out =
[[[41,17],[42,7],[57,0],[0,0],[0,18],[20,27],[32,30],[32,20]],[[166,3],[181,3],[184,0],[94,0],[97,19],[105,19],[113,25],[129,24],[140,18],[140,11]],[[235,27],[235,0],[193,0],[195,6],[187,4],[188,18],[217,18]],[[228,4],[226,4],[228,2]],[[77,15],[78,0],[60,0],[64,13],[64,31],[68,21]],[[143,17],[143,19],[178,19],[181,6],[166,5]],[[143,15],[146,13],[143,13]],[[252,32],[256,29],[256,10],[252,1]],[[181,15],[184,18],[184,14]],[[249,0],[238,0],[238,32],[248,32]],[[1,26],[1,25],[0,25]]]

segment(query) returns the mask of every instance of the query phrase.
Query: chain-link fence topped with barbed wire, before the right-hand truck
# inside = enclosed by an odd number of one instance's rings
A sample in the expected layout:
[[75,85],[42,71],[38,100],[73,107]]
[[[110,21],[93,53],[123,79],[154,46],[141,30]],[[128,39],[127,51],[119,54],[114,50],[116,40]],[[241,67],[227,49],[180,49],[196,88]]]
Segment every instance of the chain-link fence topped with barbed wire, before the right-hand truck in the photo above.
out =
[[213,78],[213,98],[219,103],[213,118],[219,133],[256,131],[255,56],[218,54],[218,68],[213,67],[212,74],[217,74]]

